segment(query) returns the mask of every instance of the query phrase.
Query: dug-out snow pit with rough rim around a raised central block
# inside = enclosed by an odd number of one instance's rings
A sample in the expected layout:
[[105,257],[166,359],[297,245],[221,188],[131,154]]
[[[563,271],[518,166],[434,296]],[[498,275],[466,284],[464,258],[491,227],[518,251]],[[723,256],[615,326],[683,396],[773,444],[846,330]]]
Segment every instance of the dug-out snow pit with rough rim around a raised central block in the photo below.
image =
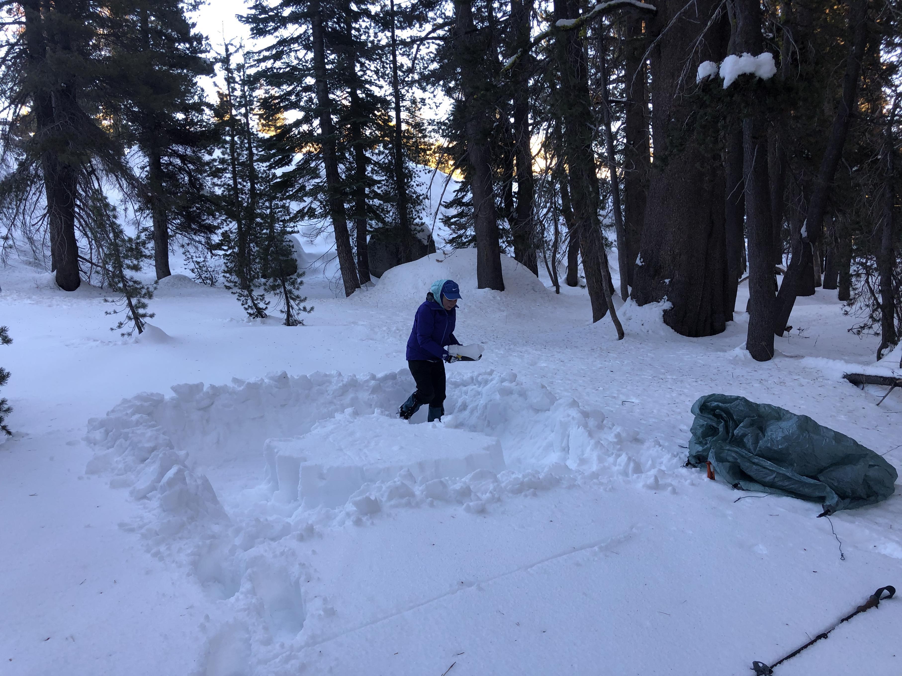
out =
[[[288,553],[292,540],[378,523],[392,508],[483,512],[575,477],[654,472],[657,487],[657,470],[679,462],[512,372],[449,378],[443,424],[425,423],[425,407],[410,424],[397,419],[413,388],[408,370],[282,372],[143,393],[89,421],[87,471],[112,475],[111,486],[143,505],[122,527],[152,553],[187,562],[213,598],[262,613],[266,636],[255,640],[267,644],[299,635],[310,612],[334,612],[325,596],[306,598],[309,571]],[[207,672],[246,663],[253,631],[235,631],[226,622],[210,640]]]

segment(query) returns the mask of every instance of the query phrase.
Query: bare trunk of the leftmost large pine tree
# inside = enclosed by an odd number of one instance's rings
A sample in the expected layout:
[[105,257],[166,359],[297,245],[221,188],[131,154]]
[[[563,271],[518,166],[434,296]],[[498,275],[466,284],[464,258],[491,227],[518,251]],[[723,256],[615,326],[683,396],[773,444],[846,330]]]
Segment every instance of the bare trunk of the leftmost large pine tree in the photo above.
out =
[[[22,3],[25,18],[24,40],[29,64],[35,71],[32,105],[36,130],[35,139],[41,149],[41,173],[47,198],[47,219],[51,240],[51,269],[56,283],[64,291],[74,291],[81,285],[78,271],[78,242],[75,239],[75,205],[78,190],[78,169],[60,158],[67,133],[72,133],[69,115],[75,113],[76,87],[71,83],[48,83],[37,78],[46,66],[48,41],[57,52],[70,50],[69,37],[62,17],[68,5],[41,8],[40,0]],[[54,30],[45,24],[45,14],[57,14]],[[61,21],[60,21],[61,20]],[[60,28],[62,25],[62,28]]]

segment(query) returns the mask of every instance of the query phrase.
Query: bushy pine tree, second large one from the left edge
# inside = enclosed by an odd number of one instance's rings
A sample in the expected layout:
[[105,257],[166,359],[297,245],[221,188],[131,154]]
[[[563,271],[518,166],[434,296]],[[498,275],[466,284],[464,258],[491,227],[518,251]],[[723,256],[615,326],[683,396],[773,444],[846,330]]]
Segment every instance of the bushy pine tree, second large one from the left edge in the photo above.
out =
[[111,112],[140,149],[143,203],[150,213],[157,279],[170,275],[170,234],[204,238],[208,215],[206,104],[198,84],[213,69],[181,0],[108,0],[105,43],[115,71]]

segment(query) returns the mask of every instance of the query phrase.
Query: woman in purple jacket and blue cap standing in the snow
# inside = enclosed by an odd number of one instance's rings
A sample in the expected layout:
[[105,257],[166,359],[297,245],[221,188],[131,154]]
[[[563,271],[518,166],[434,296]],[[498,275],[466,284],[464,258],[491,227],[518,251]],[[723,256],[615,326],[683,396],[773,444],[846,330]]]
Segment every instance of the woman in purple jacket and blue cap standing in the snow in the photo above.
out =
[[398,415],[410,420],[419,407],[429,405],[428,422],[441,420],[445,413],[445,364],[451,361],[446,345],[461,344],[455,338],[456,305],[460,288],[452,279],[437,279],[417,308],[413,330],[407,340],[407,363],[417,382],[417,391],[405,401]]

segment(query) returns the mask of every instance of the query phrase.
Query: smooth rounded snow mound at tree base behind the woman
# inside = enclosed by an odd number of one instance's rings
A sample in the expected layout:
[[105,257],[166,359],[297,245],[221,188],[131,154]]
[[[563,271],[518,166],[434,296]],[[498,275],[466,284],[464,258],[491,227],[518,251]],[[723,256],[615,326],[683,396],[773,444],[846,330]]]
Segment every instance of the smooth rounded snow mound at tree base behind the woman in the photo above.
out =
[[[535,300],[553,296],[538,277],[508,256],[502,256],[502,276],[505,298]],[[462,296],[461,306],[478,305],[488,298],[498,297],[500,293],[489,288],[477,288],[476,250],[458,249],[447,255],[431,254],[386,270],[374,289],[374,297],[416,307],[425,299],[436,279],[454,279],[457,282]]]

